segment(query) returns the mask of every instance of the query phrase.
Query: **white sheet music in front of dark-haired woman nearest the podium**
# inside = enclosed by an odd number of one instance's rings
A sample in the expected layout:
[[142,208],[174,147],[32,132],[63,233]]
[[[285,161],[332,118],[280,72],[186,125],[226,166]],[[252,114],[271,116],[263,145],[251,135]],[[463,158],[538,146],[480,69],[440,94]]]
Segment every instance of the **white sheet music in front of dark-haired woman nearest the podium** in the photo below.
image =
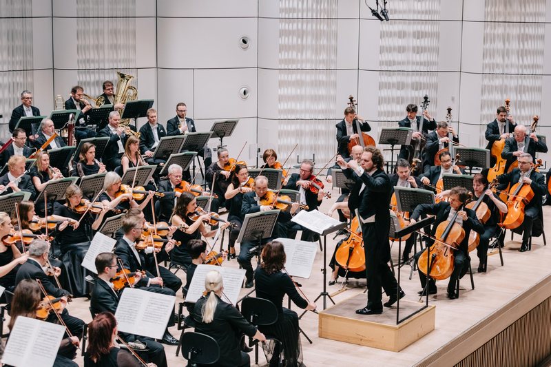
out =
[[293,240],[291,238],[276,238],[283,244],[285,251],[285,270],[291,277],[309,278],[312,272],[315,254],[318,253],[318,242]]

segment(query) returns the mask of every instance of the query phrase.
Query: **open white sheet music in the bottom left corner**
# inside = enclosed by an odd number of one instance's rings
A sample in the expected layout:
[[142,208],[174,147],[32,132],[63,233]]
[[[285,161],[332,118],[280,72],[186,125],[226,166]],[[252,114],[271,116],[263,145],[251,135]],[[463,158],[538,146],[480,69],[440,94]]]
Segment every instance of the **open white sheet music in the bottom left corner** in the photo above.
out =
[[15,320],[2,363],[11,366],[53,366],[65,328],[19,316]]

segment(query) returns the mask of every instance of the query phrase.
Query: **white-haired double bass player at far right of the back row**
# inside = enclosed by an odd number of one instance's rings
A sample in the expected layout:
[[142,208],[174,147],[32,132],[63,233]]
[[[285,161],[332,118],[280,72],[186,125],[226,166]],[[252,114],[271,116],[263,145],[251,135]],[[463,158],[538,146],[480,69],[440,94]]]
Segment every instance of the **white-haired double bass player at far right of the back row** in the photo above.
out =
[[[526,142],[528,141],[528,147]],[[530,133],[528,139],[526,138],[526,126],[517,125],[514,128],[514,134],[512,138],[505,140],[505,147],[501,151],[501,158],[506,159],[505,171],[509,170],[510,165],[523,153],[528,153],[532,156],[533,162],[536,162],[536,152],[547,153],[547,145],[543,143],[543,140],[539,140],[536,133]]]

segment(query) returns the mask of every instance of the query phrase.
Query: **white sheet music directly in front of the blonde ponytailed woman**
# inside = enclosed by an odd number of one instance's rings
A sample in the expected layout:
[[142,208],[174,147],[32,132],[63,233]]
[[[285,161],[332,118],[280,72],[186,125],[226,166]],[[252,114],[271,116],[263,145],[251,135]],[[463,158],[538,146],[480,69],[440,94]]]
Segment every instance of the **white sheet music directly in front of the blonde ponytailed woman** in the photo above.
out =
[[[235,305],[239,299],[239,292],[241,291],[241,285],[245,278],[245,269],[229,268],[228,266],[217,265],[198,265],[195,269],[194,277],[191,279],[187,295],[185,297],[186,302],[197,302],[205,291],[205,276],[211,270],[216,270],[222,274],[222,281],[224,282],[224,293],[228,297],[229,302]],[[221,297],[224,302],[228,302],[225,297]]]

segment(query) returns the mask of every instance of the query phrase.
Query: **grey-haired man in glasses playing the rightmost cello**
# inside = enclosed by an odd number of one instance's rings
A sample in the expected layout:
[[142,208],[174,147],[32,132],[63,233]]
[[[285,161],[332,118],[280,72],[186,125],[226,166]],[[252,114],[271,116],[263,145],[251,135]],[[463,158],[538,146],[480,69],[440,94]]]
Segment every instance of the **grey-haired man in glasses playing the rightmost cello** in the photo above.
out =
[[545,178],[537,171],[532,171],[528,176],[530,169],[532,169],[532,155],[530,153],[522,153],[519,156],[519,168],[515,168],[508,174],[497,176],[499,186],[497,189],[504,190],[508,185],[512,187],[517,182],[522,182],[523,185],[530,185],[530,189],[534,191],[534,198],[526,204],[524,207],[524,221],[521,224],[522,245],[519,251],[528,251],[528,242],[530,241],[530,235],[532,235],[532,224],[534,220],[543,218],[543,212],[541,209],[541,201],[547,188],[545,187]]

